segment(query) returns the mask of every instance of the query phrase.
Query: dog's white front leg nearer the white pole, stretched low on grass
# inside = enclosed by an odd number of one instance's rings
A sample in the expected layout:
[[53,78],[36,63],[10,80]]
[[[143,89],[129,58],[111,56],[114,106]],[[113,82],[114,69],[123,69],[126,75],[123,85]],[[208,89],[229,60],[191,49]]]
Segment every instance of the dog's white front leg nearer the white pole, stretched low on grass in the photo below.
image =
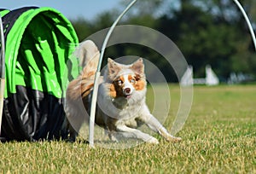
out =
[[142,139],[144,142],[154,143],[158,144],[159,141],[154,138],[153,136],[149,136],[146,133],[143,133],[142,131],[139,131],[137,129],[130,128],[126,125],[117,125],[116,130],[122,135],[127,138],[138,138]]

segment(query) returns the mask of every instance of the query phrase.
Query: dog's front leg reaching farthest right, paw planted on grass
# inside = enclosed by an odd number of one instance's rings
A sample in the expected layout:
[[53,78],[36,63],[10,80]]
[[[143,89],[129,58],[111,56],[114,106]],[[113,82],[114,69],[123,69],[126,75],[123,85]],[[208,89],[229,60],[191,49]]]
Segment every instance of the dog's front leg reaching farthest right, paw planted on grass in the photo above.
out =
[[149,114],[147,119],[144,122],[151,128],[153,131],[156,131],[163,136],[168,142],[179,142],[182,140],[181,137],[172,136],[166,128],[160,124],[159,120],[155,119],[152,114]]

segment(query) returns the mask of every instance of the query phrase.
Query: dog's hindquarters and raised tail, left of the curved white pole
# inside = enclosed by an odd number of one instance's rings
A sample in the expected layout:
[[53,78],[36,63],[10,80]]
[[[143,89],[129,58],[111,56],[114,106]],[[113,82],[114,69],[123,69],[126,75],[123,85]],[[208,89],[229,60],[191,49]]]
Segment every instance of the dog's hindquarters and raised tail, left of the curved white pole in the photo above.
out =
[[[65,112],[67,119],[63,124],[69,132],[69,140],[75,141],[85,121],[89,120],[90,91],[94,85],[100,52],[92,41],[87,40],[79,45],[74,55],[79,58],[79,66],[84,67],[78,78],[67,86]],[[85,109],[84,109],[85,108]],[[68,136],[67,136],[68,137]],[[67,138],[63,136],[63,138]]]

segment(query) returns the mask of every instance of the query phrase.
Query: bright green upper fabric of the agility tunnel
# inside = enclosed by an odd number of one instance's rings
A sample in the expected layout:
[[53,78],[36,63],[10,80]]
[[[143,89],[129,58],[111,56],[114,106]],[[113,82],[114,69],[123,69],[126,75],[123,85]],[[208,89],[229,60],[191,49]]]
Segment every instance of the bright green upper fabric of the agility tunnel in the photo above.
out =
[[54,9],[30,9],[21,14],[6,39],[4,96],[23,85],[61,97],[61,84],[66,80],[61,78],[77,43],[71,23]]

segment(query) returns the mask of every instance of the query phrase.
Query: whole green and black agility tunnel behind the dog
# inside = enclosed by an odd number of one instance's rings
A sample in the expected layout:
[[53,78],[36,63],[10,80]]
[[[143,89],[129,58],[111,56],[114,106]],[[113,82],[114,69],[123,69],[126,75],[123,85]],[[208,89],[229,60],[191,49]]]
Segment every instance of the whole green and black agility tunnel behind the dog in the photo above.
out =
[[71,56],[79,43],[71,22],[50,8],[0,13],[6,48],[1,137],[37,141],[67,136],[63,89],[79,74]]

